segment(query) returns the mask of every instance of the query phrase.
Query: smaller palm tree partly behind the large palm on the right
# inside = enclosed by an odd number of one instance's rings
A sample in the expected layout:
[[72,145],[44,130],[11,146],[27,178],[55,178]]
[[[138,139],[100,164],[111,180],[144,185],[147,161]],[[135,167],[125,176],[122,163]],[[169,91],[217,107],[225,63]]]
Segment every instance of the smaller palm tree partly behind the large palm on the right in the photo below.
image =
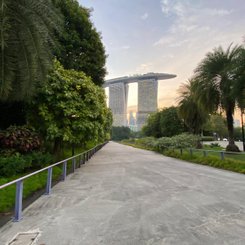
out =
[[193,134],[200,134],[208,119],[208,113],[196,101],[197,85],[195,79],[190,79],[179,89],[178,113]]

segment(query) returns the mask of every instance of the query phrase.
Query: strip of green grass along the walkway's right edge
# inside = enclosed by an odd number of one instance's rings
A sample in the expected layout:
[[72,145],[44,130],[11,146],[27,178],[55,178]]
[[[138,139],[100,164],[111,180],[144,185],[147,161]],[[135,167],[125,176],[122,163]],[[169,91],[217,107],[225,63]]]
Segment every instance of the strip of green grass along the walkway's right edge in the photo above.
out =
[[[122,144],[133,146],[140,149],[151,150],[154,151],[153,148],[143,146],[142,144],[137,145],[135,143],[128,143],[122,142]],[[207,150],[207,148],[205,148]],[[213,150],[213,148],[212,148]],[[215,168],[225,169],[241,174],[245,174],[245,154],[232,154],[232,153],[225,153],[225,159],[222,160],[220,157],[220,152],[207,152],[207,155],[204,156],[203,150],[194,150],[192,154],[189,150],[182,150],[180,149],[169,149],[163,152],[159,152],[165,156],[185,160],[192,163],[207,165]]]

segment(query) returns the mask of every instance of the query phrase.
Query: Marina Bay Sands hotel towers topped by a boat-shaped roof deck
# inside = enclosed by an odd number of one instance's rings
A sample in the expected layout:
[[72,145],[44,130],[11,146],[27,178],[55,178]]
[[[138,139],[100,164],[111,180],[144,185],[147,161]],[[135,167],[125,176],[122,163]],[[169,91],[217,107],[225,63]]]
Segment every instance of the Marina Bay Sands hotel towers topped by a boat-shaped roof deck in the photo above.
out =
[[109,87],[109,108],[113,114],[113,126],[128,126],[127,101],[129,83],[138,83],[137,128],[144,125],[148,115],[157,111],[158,80],[174,78],[176,75],[166,73],[147,73],[126,76],[105,81]]

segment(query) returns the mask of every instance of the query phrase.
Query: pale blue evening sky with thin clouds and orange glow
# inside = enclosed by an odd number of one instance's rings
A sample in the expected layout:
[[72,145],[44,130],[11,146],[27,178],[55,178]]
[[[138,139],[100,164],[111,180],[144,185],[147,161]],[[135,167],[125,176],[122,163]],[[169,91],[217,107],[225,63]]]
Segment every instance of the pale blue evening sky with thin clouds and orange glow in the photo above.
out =
[[[159,81],[158,107],[176,105],[178,88],[215,47],[242,44],[245,0],[79,0],[108,55],[106,79],[148,72],[176,74]],[[129,108],[136,108],[131,84]]]

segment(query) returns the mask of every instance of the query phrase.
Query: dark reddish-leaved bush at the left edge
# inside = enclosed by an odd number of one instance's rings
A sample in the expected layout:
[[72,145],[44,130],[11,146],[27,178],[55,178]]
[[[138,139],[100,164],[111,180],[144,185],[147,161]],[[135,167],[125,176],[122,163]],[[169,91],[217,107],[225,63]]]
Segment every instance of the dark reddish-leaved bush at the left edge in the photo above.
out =
[[0,133],[0,147],[27,153],[41,147],[39,136],[26,126],[10,126]]

